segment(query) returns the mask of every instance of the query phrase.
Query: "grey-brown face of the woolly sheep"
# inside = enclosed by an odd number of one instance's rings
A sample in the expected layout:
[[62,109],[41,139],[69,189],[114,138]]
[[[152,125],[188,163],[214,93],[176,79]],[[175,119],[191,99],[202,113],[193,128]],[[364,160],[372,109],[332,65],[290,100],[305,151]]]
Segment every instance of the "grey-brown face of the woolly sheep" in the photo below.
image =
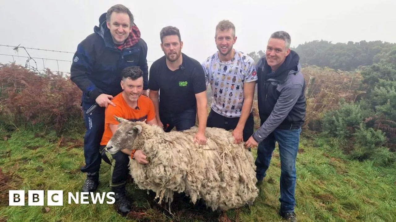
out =
[[107,151],[110,154],[115,154],[122,149],[132,149],[133,142],[137,135],[142,132],[142,126],[135,122],[116,117],[116,120],[120,122],[114,135],[107,143]]

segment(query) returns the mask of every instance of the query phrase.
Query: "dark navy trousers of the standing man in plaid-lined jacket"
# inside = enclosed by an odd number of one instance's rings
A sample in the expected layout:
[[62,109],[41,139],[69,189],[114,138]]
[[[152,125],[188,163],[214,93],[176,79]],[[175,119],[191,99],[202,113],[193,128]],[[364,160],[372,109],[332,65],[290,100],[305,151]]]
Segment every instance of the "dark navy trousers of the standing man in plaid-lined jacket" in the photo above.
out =
[[86,115],[85,113],[91,105],[82,103],[85,128],[87,129],[84,136],[85,166],[81,167],[81,171],[84,173],[99,171],[101,164],[99,146],[105,131],[105,108],[97,107],[92,113]]

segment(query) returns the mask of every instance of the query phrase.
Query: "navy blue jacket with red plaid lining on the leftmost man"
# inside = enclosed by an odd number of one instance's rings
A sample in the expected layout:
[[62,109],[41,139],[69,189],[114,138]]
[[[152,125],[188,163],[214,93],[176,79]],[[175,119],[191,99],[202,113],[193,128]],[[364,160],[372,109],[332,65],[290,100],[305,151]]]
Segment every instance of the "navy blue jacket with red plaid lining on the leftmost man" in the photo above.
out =
[[148,88],[147,44],[143,39],[131,47],[117,49],[106,24],[106,13],[99,18],[99,27],[77,46],[70,68],[70,79],[83,92],[82,102],[95,103],[102,93],[116,96],[122,92],[121,71],[128,66],[140,66],[143,89]]

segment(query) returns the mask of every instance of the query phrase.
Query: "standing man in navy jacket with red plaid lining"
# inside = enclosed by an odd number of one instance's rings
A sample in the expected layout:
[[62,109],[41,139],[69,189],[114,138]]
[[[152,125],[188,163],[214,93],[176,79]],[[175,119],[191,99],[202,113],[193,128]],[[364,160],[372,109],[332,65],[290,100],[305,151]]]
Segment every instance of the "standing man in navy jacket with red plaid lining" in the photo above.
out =
[[[121,70],[139,66],[143,71],[143,90],[148,88],[147,45],[140,38],[131,11],[123,5],[112,6],[99,18],[99,26],[77,46],[70,69],[71,80],[82,90],[82,109],[86,134],[84,137],[87,173],[83,192],[94,192],[99,184],[101,155],[99,144],[105,126],[105,107],[122,91]],[[143,91],[147,95],[147,91]],[[92,105],[98,105],[88,115]]]

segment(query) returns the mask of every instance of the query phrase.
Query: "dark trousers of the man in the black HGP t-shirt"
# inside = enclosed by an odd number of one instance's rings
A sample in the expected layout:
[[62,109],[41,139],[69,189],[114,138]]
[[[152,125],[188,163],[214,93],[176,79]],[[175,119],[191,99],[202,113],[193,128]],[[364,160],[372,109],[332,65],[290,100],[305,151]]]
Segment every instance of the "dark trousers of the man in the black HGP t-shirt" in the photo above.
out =
[[170,132],[176,126],[177,131],[188,130],[195,126],[196,107],[186,109],[179,113],[166,113],[160,111],[160,120],[164,124],[164,131]]

